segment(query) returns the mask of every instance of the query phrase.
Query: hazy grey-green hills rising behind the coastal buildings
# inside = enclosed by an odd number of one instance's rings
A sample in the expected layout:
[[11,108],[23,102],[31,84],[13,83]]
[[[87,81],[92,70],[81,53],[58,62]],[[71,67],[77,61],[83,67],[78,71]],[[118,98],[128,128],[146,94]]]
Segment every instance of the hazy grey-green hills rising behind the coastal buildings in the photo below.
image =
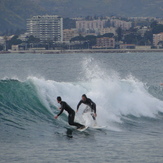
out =
[[0,31],[26,28],[34,15],[162,17],[163,0],[0,0]]

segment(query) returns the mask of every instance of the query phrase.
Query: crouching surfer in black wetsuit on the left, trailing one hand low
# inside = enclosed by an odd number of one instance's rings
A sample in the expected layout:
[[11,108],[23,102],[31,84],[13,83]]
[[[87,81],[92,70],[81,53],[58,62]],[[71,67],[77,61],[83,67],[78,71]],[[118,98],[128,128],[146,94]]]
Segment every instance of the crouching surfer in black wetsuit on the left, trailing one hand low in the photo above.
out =
[[74,122],[74,118],[75,118],[75,111],[64,101],[62,101],[61,97],[57,97],[57,102],[61,105],[61,111],[59,112],[59,114],[57,116],[55,116],[54,118],[57,119],[64,110],[66,110],[68,112],[68,123],[69,125],[72,126],[76,126],[78,129],[82,129],[85,126],[80,124],[80,123],[76,123]]

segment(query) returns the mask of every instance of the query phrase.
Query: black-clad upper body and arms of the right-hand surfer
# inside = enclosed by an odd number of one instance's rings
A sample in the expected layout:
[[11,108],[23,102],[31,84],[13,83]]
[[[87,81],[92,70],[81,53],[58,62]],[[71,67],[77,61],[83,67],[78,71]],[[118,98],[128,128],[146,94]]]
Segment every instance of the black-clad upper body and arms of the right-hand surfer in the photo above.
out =
[[[91,113],[92,118],[93,118],[93,120],[96,120],[96,116],[97,116],[97,114],[96,114],[96,104],[90,98],[87,98],[87,96],[85,94],[82,95],[82,99],[80,100],[80,102],[77,105],[76,112],[78,112],[79,106],[82,103],[85,104],[85,105],[88,105],[91,108],[91,111],[94,112],[94,113]],[[85,113],[85,112],[87,112],[87,111],[84,110],[83,113]]]

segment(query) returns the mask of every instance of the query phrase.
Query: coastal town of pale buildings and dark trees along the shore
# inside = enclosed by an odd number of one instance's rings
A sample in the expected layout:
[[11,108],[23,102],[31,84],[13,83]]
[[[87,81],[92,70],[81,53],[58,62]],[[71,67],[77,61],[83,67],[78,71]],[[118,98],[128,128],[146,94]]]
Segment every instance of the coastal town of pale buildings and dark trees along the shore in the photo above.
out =
[[163,18],[38,15],[0,35],[0,53],[163,51]]

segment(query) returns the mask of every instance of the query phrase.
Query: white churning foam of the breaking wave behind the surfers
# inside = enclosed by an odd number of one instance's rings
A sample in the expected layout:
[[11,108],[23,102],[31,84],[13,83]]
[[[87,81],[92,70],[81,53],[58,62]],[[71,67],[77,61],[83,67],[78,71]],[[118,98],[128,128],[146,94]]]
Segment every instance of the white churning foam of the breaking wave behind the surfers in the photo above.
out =
[[[76,110],[82,94],[86,94],[96,103],[97,121],[102,126],[110,126],[113,122],[121,123],[122,115],[155,118],[158,112],[163,112],[163,102],[150,95],[144,83],[131,75],[120,79],[117,73],[114,74],[113,71],[106,73],[97,64],[94,67],[90,66],[89,62],[90,60],[83,63],[85,80],[83,78],[80,82],[56,82],[36,77],[29,78],[51,113],[53,113],[51,105],[59,106],[56,102],[57,96],[61,96],[63,101]],[[80,107],[78,118],[84,108],[84,105]]]

